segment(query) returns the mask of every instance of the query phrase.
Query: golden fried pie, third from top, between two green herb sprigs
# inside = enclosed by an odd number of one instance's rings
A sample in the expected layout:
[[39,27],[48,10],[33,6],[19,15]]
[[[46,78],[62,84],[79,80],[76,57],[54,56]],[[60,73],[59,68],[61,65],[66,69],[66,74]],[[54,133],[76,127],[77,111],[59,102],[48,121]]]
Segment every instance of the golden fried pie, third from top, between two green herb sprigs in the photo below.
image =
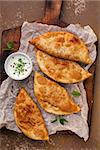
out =
[[34,94],[41,107],[49,113],[67,115],[80,111],[80,107],[63,87],[37,72],[34,77]]

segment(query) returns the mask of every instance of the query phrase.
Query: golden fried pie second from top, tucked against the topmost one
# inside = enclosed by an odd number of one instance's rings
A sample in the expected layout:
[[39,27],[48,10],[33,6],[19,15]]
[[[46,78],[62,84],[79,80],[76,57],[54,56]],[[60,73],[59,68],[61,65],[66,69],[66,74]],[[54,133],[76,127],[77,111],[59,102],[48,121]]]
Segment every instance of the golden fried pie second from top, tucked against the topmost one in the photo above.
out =
[[39,50],[36,55],[42,72],[57,82],[76,83],[92,75],[73,61],[62,60]]

